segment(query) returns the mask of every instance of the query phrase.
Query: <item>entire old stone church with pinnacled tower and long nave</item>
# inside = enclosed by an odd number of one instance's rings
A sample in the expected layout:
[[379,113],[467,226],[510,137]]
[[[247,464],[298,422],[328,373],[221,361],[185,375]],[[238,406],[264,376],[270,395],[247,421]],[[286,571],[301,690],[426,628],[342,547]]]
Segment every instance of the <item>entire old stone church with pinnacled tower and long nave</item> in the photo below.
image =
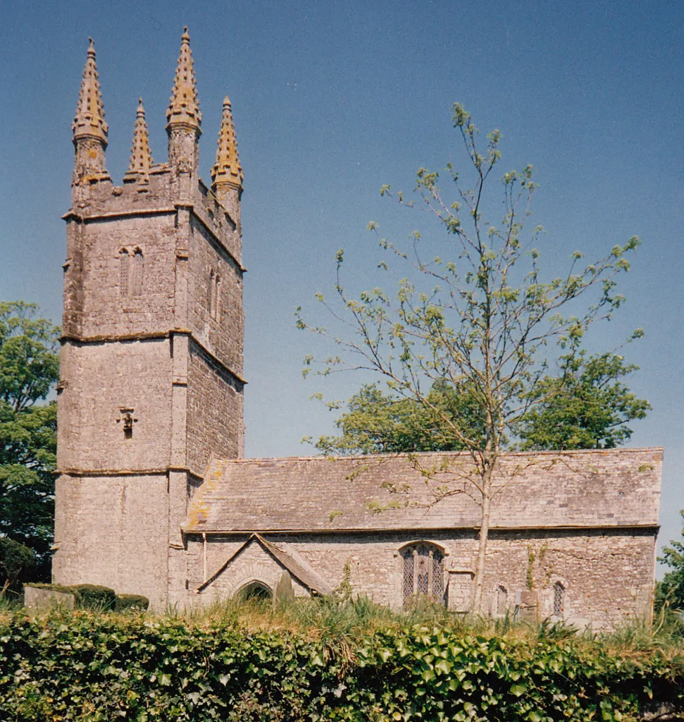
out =
[[[450,482],[467,453],[244,458],[243,175],[231,103],[206,186],[186,28],[167,160],[152,160],[141,100],[115,185],[95,60],[91,40],[63,216],[54,582],[144,594],[162,611],[341,589],[397,609],[423,597],[468,612],[480,510],[467,493],[427,503],[423,473]],[[662,448],[507,453],[486,614],[597,629],[648,619],[661,471]],[[395,503],[398,487],[411,487],[411,503]]]

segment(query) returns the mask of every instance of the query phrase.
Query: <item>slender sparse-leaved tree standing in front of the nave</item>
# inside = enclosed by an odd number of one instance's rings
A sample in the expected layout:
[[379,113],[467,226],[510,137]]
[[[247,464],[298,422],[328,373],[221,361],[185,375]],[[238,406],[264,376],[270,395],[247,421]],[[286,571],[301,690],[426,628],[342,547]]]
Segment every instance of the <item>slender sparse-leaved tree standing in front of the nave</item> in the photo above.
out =
[[[623,302],[615,292],[616,277],[628,271],[626,256],[639,241],[635,237],[615,245],[588,264],[574,251],[566,272],[545,280],[536,248],[542,229],[525,230],[536,188],[532,166],[500,176],[503,217],[488,219],[484,206],[493,197],[489,185],[501,160],[501,134],[492,131],[481,149],[478,129],[459,104],[453,123],[468,159],[463,172],[447,165],[455,197],[443,199],[439,173],[421,168],[416,181],[420,207],[447,233],[449,258],[426,260],[418,232],[408,250],[382,238],[390,258],[408,266],[408,272],[400,274],[394,295],[378,287],[354,298],[343,285],[340,251],[336,301],[317,295],[332,316],[333,329],[310,326],[300,310],[297,326],[336,344],[338,353],[323,360],[320,373],[363,369],[380,375],[390,393],[421,404],[468,452],[468,461],[454,462],[460,465],[453,471],[460,483],[439,492],[436,501],[448,493],[468,493],[481,509],[473,592],[473,609],[481,612],[491,508],[501,491],[501,453],[527,414],[556,395],[556,389],[545,389],[551,362],[576,358],[589,326],[610,318]],[[390,187],[381,193],[391,195]],[[400,204],[413,205],[402,193],[396,197]],[[370,227],[377,230],[375,223]],[[381,265],[390,270],[389,264]],[[305,371],[315,361],[308,357]],[[436,381],[449,384],[458,396],[472,396],[481,409],[482,430],[431,399]]]

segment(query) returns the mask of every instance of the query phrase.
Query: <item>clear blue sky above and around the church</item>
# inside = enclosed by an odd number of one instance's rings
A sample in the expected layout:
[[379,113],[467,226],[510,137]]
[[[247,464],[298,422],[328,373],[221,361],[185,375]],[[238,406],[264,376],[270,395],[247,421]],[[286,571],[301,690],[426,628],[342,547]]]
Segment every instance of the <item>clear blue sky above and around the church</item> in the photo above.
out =
[[459,101],[481,129],[503,131],[505,170],[538,168],[534,221],[547,230],[551,266],[576,248],[598,256],[631,235],[643,240],[621,285],[628,303],[592,343],[612,348],[636,326],[646,330],[628,349],[641,365],[629,383],[654,410],[634,425],[632,445],[665,446],[661,539],[678,536],[684,3],[9,2],[0,30],[0,297],[61,317],[60,216],[88,36],[110,126],[108,168],[120,182],[139,95],[152,154],[165,160],[183,25],[204,116],[201,175],[209,179],[226,94],[245,168],[247,454],[310,453],[302,436],[331,432],[333,422],[310,394],[346,399],[358,388],[353,376],[302,380],[315,339],[294,329],[294,307],[313,309],[313,293],[331,289],[338,248],[361,285],[377,283],[369,220],[398,240],[424,224],[379,188],[410,190],[421,165],[462,160],[450,127]]

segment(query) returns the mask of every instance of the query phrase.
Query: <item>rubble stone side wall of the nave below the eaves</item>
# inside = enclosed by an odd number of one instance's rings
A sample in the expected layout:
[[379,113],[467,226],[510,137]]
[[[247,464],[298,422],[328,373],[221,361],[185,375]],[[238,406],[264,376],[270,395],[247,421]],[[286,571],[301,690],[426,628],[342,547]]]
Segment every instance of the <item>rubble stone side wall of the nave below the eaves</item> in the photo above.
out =
[[[379,604],[403,604],[403,559],[400,549],[411,541],[428,540],[444,549],[444,582],[449,572],[474,569],[478,541],[475,531],[362,532],[359,534],[269,534],[268,541],[308,562],[331,586],[339,585],[351,562],[354,593],[368,594]],[[206,570],[213,575],[244,543],[246,536],[208,537]],[[655,538],[639,529],[497,531],[488,545],[484,579],[484,611],[496,614],[496,594],[504,588],[511,612],[532,589],[538,596],[538,619],[553,615],[553,586],[564,587],[561,617],[595,629],[610,628],[631,617],[648,617],[652,599]],[[255,553],[255,552],[254,552]],[[228,573],[228,571],[230,573]],[[230,567],[216,580],[214,596],[232,593],[246,581]],[[269,583],[251,570],[252,578]],[[263,574],[268,576],[265,566]],[[466,578],[467,577],[467,578]],[[472,575],[464,577],[467,582]],[[220,583],[219,583],[220,579]],[[270,579],[270,577],[269,577]],[[203,542],[188,537],[188,587],[203,582]],[[209,590],[208,590],[209,591]],[[462,591],[462,590],[461,590]],[[204,599],[209,599],[203,595]],[[189,597],[190,601],[192,596]]]

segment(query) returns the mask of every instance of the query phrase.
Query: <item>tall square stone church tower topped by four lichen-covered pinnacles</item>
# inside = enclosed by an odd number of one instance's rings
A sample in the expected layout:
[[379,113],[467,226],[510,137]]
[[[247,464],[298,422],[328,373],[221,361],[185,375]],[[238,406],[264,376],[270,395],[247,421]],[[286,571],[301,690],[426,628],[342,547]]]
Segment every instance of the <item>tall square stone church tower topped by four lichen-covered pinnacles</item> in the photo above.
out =
[[240,458],[242,168],[224,100],[211,188],[187,28],[154,163],[139,103],[123,186],[90,41],[66,221],[53,578],[182,601],[180,525],[211,456]]

